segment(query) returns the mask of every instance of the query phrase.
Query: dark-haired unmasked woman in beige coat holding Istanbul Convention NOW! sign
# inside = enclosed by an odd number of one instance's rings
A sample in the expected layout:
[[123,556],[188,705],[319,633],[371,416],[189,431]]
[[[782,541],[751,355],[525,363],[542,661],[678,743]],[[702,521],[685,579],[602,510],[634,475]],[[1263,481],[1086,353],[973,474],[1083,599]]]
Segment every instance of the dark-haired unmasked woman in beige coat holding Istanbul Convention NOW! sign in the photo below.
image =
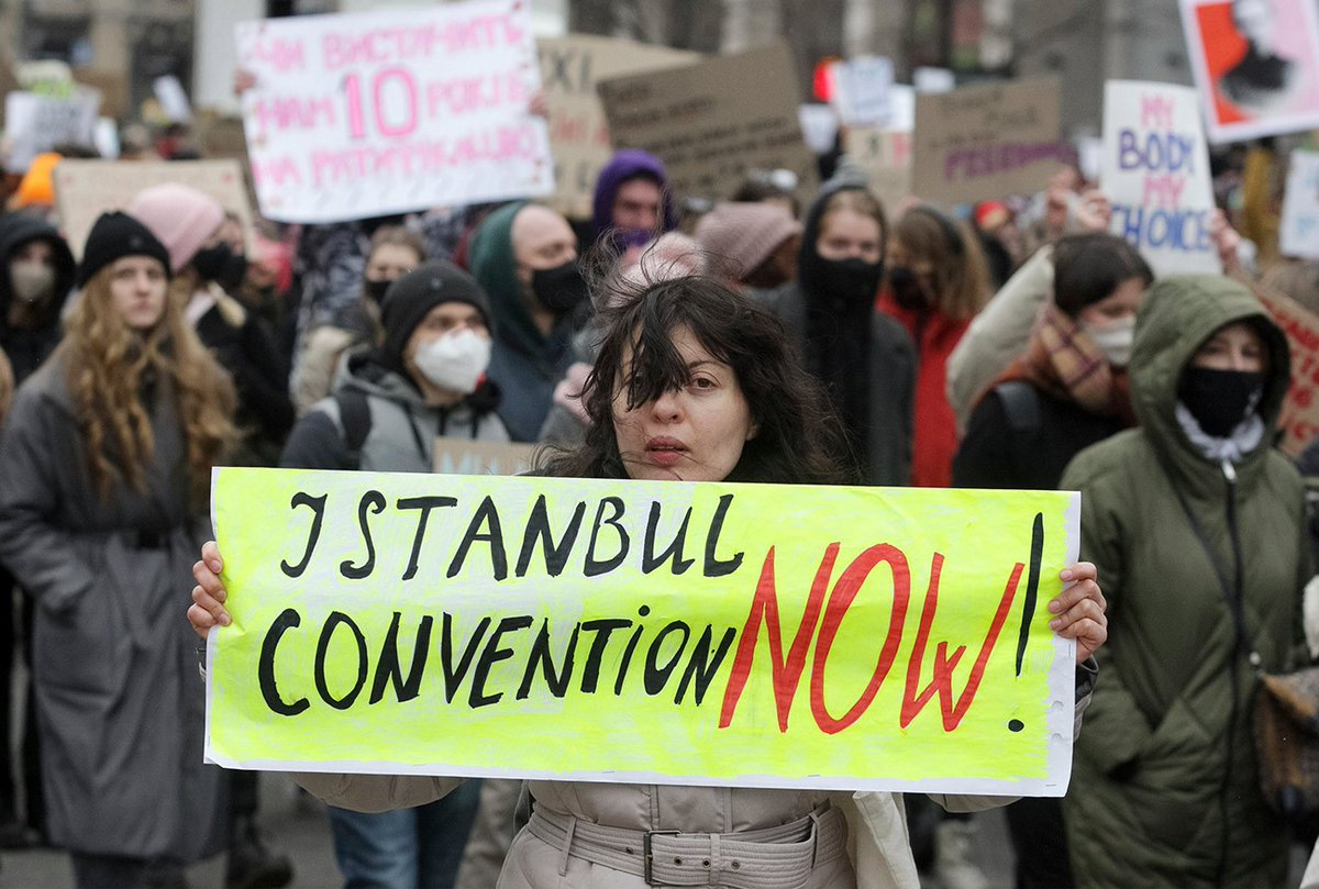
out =
[[[826,484],[847,480],[835,460],[840,430],[801,368],[782,326],[729,288],[683,277],[642,288],[615,309],[586,396],[592,423],[575,451],[542,460],[561,477]],[[230,623],[214,543],[194,567],[189,619],[204,636]],[[1105,638],[1093,567],[1049,605],[1051,627],[1088,659]],[[1079,710],[1089,690],[1082,677]],[[601,762],[603,768],[609,764]],[[303,774],[303,786],[367,811],[441,798],[458,780]],[[513,840],[500,889],[640,889],[725,885],[798,889],[915,889],[919,880],[890,793],[532,781],[534,809]],[[859,860],[847,851],[843,809],[859,814]],[[1001,797],[947,797],[987,807]],[[860,880],[859,880],[860,874]]]

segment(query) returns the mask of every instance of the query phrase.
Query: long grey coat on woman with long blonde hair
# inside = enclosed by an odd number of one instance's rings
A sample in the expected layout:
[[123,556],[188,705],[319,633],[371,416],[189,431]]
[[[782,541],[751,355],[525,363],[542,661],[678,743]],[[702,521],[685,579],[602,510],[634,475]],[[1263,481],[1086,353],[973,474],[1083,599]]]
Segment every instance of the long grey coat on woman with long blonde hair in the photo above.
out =
[[98,495],[62,356],[18,389],[0,437],[0,558],[37,601],[50,839],[193,861],[219,849],[224,820],[223,773],[202,762],[197,638],[182,620],[210,522],[186,503],[168,398],[152,409],[146,491]]

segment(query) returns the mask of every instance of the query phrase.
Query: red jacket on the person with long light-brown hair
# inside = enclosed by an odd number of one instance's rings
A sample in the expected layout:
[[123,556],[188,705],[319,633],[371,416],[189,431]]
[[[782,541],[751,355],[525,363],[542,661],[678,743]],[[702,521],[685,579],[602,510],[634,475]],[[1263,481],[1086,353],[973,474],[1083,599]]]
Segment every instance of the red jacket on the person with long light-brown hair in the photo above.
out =
[[911,441],[911,484],[947,488],[952,484],[952,455],[958,450],[958,421],[948,404],[948,356],[971,319],[952,321],[938,310],[907,311],[885,290],[877,303],[906,327],[915,343],[915,414]]

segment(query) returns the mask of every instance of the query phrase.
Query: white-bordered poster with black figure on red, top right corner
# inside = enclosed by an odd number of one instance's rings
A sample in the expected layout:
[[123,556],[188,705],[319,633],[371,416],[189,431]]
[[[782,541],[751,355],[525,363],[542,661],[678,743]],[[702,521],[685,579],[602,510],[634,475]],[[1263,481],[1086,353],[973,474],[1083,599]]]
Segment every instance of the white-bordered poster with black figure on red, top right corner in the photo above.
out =
[[1181,0],[1210,140],[1319,127],[1319,4]]

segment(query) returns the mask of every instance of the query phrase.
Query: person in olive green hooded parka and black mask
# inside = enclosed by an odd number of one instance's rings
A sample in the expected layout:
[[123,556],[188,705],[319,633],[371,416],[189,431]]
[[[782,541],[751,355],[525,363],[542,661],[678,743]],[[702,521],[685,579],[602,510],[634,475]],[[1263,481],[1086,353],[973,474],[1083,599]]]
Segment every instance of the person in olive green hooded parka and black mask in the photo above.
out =
[[1258,671],[1302,657],[1311,575],[1301,476],[1272,447],[1289,368],[1244,285],[1165,278],[1136,323],[1140,427],[1063,474],[1109,616],[1064,801],[1082,889],[1286,882],[1252,720]]

